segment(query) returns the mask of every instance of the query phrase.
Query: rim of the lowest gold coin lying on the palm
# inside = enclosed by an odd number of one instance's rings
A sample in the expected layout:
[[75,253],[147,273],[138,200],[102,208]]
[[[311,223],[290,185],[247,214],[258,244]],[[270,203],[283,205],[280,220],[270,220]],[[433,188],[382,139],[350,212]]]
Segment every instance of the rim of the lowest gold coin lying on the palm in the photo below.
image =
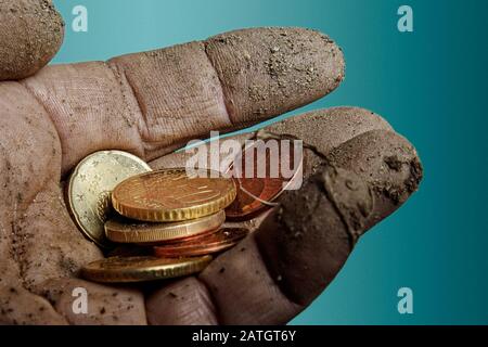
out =
[[[136,257],[112,257],[112,258],[136,258]],[[137,257],[141,258],[141,257]],[[168,258],[145,256],[157,262],[157,260],[167,260]],[[81,275],[90,281],[99,283],[133,283],[174,279],[183,275],[189,275],[195,272],[200,272],[211,261],[210,255],[202,257],[185,257],[177,259],[174,264],[162,264],[146,267],[132,267],[124,269],[101,269],[98,265],[107,261],[111,258],[105,258],[97,261],[92,261],[81,269]]]

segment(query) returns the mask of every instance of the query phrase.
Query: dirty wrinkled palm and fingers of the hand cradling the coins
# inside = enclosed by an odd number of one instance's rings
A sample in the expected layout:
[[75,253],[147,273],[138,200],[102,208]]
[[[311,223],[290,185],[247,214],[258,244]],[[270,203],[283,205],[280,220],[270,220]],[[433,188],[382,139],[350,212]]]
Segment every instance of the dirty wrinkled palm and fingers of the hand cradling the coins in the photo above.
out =
[[[153,168],[181,166],[185,155],[171,153],[189,140],[305,105],[343,78],[343,54],[328,37],[261,28],[0,82],[0,323],[290,321],[341,270],[356,242],[350,231],[361,235],[416,190],[415,150],[380,116],[333,108],[267,129],[310,145],[304,189],[246,222],[255,232],[197,277],[130,287],[80,280],[80,267],[103,254],[72,221],[63,182],[100,150],[131,152]],[[356,218],[361,204],[367,211]],[[89,293],[88,314],[73,312],[75,287]]]

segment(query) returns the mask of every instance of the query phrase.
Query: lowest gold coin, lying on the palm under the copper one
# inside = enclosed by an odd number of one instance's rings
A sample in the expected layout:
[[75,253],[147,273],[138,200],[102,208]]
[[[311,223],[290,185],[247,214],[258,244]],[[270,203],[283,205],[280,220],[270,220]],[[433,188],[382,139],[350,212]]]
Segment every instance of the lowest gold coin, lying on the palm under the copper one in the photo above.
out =
[[87,280],[103,283],[127,283],[164,280],[200,272],[211,256],[195,258],[112,257],[90,262],[81,269]]

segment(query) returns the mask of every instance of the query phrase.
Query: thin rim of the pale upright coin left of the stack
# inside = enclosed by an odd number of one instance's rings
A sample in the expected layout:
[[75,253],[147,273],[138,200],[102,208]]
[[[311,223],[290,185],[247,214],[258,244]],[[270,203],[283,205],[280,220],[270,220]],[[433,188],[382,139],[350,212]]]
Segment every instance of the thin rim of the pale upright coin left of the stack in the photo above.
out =
[[[79,168],[81,167],[81,165],[84,165],[86,162],[88,162],[91,157],[99,155],[101,153],[106,153],[106,154],[111,154],[111,153],[116,153],[116,154],[120,154],[124,155],[126,157],[129,157],[131,159],[134,159],[136,162],[138,162],[139,164],[142,164],[143,167],[145,167],[149,171],[152,171],[151,166],[149,166],[147,163],[145,163],[143,159],[141,159],[140,157],[138,157],[137,155],[133,155],[131,153],[128,152],[124,152],[124,151],[117,151],[117,150],[110,150],[110,151],[97,151],[93,152],[92,154],[86,156],[85,158],[82,158],[78,165],[73,169],[73,172],[69,175],[69,179],[68,179],[68,184],[67,184],[67,189],[66,189],[66,198],[67,198],[67,209],[69,211],[69,215],[73,217],[73,219],[75,220],[75,224],[76,227],[84,233],[84,235],[89,239],[90,241],[94,242],[98,246],[103,247],[103,248],[108,248],[110,245],[107,243],[107,240],[98,240],[97,237],[94,237],[93,235],[91,235],[91,233],[86,230],[82,227],[82,223],[80,221],[80,217],[78,216],[78,214],[76,213],[75,208],[73,208],[73,180],[76,174],[79,172]],[[145,174],[147,174],[145,172]],[[111,192],[112,195],[112,192]],[[105,235],[105,233],[102,233],[103,235]]]

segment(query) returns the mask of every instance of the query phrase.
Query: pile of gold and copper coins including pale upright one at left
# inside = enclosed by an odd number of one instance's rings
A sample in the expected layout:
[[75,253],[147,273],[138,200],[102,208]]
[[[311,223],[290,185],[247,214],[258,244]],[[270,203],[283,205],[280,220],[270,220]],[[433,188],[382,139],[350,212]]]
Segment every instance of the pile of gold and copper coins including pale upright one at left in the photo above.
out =
[[235,196],[234,181],[209,170],[192,176],[185,169],[151,171],[141,159],[119,151],[89,156],[69,180],[72,215],[100,246],[136,250],[91,262],[81,274],[97,282],[139,282],[202,271],[211,254],[247,234],[223,227],[224,208]]

